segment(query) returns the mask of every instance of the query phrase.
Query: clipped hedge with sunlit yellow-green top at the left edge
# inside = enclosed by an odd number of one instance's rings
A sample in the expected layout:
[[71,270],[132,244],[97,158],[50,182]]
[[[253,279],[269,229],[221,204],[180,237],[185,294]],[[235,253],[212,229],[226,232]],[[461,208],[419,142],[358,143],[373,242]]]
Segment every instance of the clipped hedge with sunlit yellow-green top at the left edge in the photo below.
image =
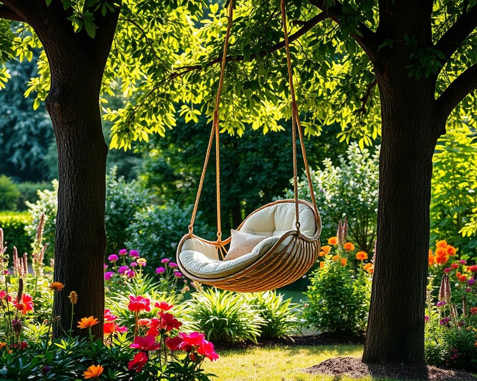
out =
[[32,221],[33,217],[28,212],[0,212],[0,228],[3,229],[10,254],[13,246],[16,246],[20,254],[31,252],[31,240],[25,227]]

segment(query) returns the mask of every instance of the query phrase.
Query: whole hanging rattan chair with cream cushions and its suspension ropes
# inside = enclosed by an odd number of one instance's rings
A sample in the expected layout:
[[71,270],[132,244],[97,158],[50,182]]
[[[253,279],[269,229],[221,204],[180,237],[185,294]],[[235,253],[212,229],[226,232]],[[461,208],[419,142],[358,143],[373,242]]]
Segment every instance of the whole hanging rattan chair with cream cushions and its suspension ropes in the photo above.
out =
[[[237,228],[237,231],[232,231],[231,237],[222,240],[220,217],[219,103],[232,25],[233,1],[231,0],[229,4],[229,22],[222,56],[219,88],[214,109],[214,120],[204,167],[192,210],[189,232],[182,237],[177,247],[177,264],[185,276],[199,283],[230,291],[257,292],[285,286],[301,278],[318,259],[321,220],[316,205],[295,99],[284,0],[280,0],[280,7],[285,34],[288,79],[292,98],[293,183],[295,197],[293,199],[273,201],[256,209],[243,220]],[[298,198],[297,129],[305,163],[308,186],[310,188],[311,203]],[[195,235],[193,230],[214,137],[216,143],[217,240],[208,241]],[[253,244],[255,241],[256,244]],[[254,245],[251,248],[250,242]],[[234,252],[236,253],[236,255],[231,255],[231,258],[229,258],[226,248],[228,245],[230,245],[229,254],[232,254],[233,246]],[[240,252],[240,249],[242,252],[245,250],[246,253],[237,255],[237,251]]]

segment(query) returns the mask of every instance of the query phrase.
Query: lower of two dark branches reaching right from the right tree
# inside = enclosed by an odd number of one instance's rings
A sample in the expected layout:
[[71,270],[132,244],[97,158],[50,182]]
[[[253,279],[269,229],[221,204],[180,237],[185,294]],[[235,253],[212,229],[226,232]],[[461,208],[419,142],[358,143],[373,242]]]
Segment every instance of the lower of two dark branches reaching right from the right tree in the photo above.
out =
[[477,89],[477,64],[467,68],[437,98],[439,116],[447,120],[454,108],[472,91]]

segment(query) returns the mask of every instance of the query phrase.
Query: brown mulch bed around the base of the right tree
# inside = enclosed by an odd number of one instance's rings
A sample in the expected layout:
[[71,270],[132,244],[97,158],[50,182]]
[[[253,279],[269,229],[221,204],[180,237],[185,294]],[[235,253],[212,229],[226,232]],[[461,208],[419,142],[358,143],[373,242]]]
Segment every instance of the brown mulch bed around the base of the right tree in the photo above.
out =
[[337,357],[325,360],[303,372],[312,375],[334,376],[340,380],[341,376],[350,378],[397,378],[401,380],[433,380],[433,381],[476,381],[477,378],[463,371],[444,370],[431,366],[416,367],[401,364],[366,365],[354,357]]

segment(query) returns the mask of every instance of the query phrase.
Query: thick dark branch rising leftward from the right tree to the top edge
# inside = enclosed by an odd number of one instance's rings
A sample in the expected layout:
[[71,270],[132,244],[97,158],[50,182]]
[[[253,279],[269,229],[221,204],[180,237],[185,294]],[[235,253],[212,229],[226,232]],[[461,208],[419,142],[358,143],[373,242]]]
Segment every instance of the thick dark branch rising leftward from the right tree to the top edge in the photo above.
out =
[[[343,6],[339,1],[335,1],[333,6],[326,7],[324,0],[309,0],[309,2],[319,9],[321,9],[327,17],[336,22],[338,25],[342,24],[342,19],[347,16],[343,13]],[[379,42],[376,33],[369,29],[362,22],[358,23],[358,33],[350,33],[355,41],[363,48],[371,61],[376,62],[378,58]]]

